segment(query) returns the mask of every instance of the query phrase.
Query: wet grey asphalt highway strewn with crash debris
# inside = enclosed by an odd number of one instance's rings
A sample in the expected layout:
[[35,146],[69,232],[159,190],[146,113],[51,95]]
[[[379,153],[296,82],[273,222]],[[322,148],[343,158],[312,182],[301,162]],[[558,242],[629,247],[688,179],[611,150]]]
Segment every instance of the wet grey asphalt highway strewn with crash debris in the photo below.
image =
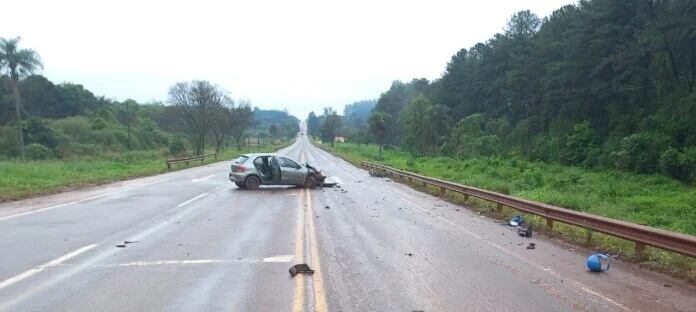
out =
[[[621,262],[590,274],[588,251],[518,237],[304,136],[280,153],[341,187],[242,190],[223,161],[0,205],[0,311],[695,310],[693,285]],[[302,262],[315,273],[291,278]]]

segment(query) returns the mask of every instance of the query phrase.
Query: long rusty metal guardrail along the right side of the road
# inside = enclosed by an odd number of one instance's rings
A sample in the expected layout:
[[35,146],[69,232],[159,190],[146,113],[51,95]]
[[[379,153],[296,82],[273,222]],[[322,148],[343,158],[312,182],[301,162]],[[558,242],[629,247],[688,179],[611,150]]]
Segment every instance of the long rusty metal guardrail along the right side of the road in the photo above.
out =
[[[371,162],[363,161],[362,165],[368,169],[380,170],[385,174],[392,176],[396,175],[400,178],[407,178],[409,182],[412,182],[413,180],[420,181],[423,183],[424,187],[427,185],[439,187],[441,196],[444,196],[446,191],[452,191],[464,194],[465,200],[468,199],[469,196],[473,196],[494,202],[497,204],[498,210],[500,210],[503,206],[508,206],[522,212],[544,217],[546,218],[546,226],[549,229],[553,228],[554,221],[558,221],[582,227],[591,231],[620,237],[634,242],[635,253],[639,256],[645,255],[645,246],[649,245],[674,251],[683,255],[696,257],[696,236],[670,232],[645,225],[619,221],[540,202],[515,198],[505,194],[438,180]],[[591,234],[588,233],[588,235]]]

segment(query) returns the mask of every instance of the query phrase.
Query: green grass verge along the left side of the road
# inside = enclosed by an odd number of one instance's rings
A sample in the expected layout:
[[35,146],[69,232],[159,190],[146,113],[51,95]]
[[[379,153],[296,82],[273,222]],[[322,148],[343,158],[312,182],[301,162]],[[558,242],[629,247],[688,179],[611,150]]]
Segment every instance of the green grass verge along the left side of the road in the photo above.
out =
[[[218,160],[232,159],[243,152],[274,151],[290,143],[291,141],[273,145],[262,142],[260,148],[254,146],[252,149],[243,148],[241,151],[232,148],[218,155]],[[168,171],[165,165],[166,158],[165,151],[135,151],[64,160],[0,161],[0,202],[164,173]],[[203,163],[192,161],[189,166],[172,165],[172,170],[214,161],[213,158],[206,158]]]

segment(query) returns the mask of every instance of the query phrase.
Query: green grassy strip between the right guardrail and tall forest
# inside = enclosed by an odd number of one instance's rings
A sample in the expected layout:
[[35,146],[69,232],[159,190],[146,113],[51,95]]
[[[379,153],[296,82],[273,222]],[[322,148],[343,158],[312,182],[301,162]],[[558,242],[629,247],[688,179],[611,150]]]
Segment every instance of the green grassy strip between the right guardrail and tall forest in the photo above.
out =
[[657,174],[592,170],[519,157],[418,157],[395,148],[384,150],[380,158],[375,144],[336,143],[332,151],[355,164],[379,162],[515,197],[696,235],[696,187]]

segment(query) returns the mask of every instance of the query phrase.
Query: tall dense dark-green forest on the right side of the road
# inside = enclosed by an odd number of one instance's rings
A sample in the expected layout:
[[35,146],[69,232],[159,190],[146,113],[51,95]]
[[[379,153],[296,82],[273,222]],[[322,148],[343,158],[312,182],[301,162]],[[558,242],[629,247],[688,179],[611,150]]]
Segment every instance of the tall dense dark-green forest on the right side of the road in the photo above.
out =
[[372,141],[417,155],[520,155],[694,181],[696,1],[518,12],[441,78],[395,81],[373,114]]

